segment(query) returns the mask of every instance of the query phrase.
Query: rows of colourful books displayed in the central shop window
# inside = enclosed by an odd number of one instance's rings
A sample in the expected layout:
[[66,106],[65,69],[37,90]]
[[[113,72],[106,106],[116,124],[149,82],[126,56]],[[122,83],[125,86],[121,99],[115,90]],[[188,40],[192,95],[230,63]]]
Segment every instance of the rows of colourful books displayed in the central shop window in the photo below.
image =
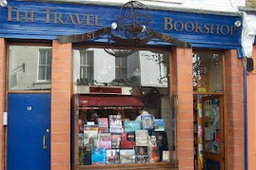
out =
[[78,134],[79,164],[169,161],[164,120],[151,121],[154,120],[146,116],[142,122],[122,124],[119,115],[108,115],[108,118],[99,118],[98,124],[84,124],[84,133]]

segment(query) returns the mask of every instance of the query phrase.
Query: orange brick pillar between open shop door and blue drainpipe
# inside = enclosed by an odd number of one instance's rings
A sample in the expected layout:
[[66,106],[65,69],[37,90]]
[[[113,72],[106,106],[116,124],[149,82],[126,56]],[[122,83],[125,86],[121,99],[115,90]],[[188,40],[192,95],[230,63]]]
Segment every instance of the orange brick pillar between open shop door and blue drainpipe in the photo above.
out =
[[244,67],[236,50],[225,53],[227,169],[244,170]]

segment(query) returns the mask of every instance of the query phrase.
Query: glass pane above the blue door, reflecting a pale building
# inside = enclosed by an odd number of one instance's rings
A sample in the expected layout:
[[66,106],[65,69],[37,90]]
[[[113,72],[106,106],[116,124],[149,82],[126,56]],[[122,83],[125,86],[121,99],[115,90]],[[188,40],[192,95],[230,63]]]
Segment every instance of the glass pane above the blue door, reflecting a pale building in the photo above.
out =
[[50,89],[51,47],[10,46],[9,89]]

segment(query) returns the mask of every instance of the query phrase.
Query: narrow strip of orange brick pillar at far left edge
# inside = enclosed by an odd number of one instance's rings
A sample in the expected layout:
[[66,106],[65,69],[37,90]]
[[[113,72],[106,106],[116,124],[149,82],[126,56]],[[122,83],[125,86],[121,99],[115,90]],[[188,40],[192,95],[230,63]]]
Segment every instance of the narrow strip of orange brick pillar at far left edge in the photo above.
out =
[[5,64],[6,43],[0,38],[0,170],[4,170],[4,126],[3,112],[5,110]]

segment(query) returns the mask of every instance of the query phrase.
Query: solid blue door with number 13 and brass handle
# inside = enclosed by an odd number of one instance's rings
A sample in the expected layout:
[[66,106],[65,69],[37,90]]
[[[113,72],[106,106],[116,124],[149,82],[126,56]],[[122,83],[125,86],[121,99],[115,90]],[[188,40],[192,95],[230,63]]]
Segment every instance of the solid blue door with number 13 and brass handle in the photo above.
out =
[[8,170],[50,169],[50,94],[8,95]]

